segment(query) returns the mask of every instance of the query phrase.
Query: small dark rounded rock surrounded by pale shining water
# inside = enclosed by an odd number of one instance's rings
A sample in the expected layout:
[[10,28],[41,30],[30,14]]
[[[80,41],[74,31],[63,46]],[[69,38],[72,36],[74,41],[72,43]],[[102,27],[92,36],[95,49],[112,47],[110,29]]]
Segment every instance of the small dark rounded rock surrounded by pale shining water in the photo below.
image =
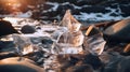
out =
[[22,27],[21,31],[22,31],[22,33],[35,33],[36,29],[32,26],[25,25]]

